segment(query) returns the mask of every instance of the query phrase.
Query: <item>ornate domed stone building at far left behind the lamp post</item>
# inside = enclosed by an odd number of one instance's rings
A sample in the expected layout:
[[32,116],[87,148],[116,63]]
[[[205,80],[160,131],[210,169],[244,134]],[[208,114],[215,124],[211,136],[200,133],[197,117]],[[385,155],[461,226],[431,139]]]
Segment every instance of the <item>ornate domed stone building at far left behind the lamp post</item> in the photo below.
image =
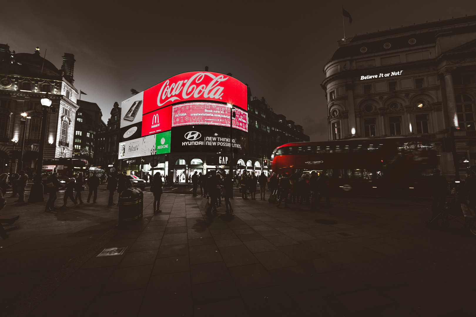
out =
[[[78,109],[78,91],[73,85],[74,62],[74,55],[65,53],[58,69],[41,57],[39,48],[33,54],[15,53],[7,44],[0,44],[0,173],[7,172],[9,160],[15,172],[14,149],[23,152],[23,169],[33,170],[40,144],[40,99],[46,93],[56,113],[48,115],[43,158],[72,156],[74,118]],[[20,125],[21,113],[29,117],[25,133],[25,125]],[[21,148],[23,137],[25,142]]]

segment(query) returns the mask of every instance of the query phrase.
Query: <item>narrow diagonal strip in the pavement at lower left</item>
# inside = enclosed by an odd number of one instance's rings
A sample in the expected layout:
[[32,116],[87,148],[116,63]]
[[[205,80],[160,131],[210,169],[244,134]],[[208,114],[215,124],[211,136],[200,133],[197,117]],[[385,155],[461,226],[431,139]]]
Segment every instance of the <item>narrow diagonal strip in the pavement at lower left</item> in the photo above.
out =
[[102,247],[109,242],[116,234],[119,233],[121,227],[116,225],[109,229],[101,237],[84,250],[72,257],[68,262],[63,264],[60,269],[52,273],[48,278],[42,280],[38,285],[32,288],[24,296],[7,307],[2,313],[4,317],[25,317],[35,307],[37,307],[45,298],[47,298],[56,288],[66,281],[74,272],[76,272],[84,263],[93,257]]

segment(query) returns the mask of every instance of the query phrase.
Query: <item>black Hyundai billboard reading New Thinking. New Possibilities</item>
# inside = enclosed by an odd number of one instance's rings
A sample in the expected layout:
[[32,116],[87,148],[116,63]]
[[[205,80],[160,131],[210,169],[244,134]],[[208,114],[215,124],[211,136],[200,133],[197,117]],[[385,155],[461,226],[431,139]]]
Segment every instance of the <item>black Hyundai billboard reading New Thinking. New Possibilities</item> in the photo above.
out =
[[[184,125],[172,128],[173,152],[230,152],[230,128],[209,125]],[[233,129],[231,145],[238,154],[247,155],[246,133]]]

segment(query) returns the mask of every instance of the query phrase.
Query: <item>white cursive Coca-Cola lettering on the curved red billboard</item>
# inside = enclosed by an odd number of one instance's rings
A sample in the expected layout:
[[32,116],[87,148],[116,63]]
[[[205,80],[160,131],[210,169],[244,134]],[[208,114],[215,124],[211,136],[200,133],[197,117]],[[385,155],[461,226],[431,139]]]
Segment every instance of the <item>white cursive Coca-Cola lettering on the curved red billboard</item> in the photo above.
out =
[[223,75],[214,76],[210,73],[196,73],[189,79],[178,80],[175,83],[166,80],[159,90],[157,106],[161,107],[169,101],[185,100],[191,96],[198,98],[202,94],[205,98],[219,100],[223,96],[224,89],[223,86],[219,85],[228,78]]

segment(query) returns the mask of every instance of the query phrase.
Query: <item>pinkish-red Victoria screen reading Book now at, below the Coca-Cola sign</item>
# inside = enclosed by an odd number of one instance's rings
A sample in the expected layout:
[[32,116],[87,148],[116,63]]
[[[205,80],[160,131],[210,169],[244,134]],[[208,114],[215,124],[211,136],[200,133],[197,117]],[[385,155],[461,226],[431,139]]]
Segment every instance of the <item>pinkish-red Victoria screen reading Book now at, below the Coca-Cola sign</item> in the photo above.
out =
[[[248,113],[235,108],[234,128],[248,132]],[[180,125],[230,126],[230,108],[208,102],[194,102],[172,106],[172,126]]]

